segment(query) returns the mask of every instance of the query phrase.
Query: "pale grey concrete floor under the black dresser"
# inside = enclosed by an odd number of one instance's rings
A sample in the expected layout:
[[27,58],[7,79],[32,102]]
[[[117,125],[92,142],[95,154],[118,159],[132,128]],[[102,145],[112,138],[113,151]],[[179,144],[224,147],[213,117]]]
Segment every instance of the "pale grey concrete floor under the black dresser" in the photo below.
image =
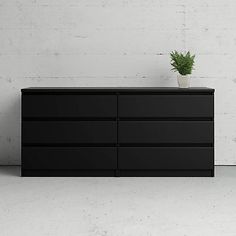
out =
[[215,178],[21,178],[0,168],[1,236],[236,235],[236,167]]

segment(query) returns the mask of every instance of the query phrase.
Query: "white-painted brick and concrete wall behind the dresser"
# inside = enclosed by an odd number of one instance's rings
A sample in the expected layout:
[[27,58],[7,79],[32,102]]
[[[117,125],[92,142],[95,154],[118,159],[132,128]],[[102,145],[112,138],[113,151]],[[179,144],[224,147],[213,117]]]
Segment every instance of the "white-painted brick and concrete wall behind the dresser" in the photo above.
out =
[[216,164],[236,164],[235,0],[0,0],[0,164],[20,163],[20,89],[176,86],[171,50],[216,88]]

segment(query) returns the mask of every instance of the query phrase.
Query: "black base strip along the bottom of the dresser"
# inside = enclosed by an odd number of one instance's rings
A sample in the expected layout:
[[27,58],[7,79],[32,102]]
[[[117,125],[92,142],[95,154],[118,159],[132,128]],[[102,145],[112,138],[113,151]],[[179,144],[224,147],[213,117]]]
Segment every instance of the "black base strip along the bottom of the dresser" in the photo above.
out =
[[22,177],[214,177],[214,170],[22,170]]

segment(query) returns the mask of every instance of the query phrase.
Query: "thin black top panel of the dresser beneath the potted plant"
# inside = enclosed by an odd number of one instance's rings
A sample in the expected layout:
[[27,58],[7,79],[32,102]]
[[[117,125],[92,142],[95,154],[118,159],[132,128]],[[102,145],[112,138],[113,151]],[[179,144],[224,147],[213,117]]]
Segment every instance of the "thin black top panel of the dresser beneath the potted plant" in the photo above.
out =
[[29,87],[21,89],[23,93],[34,92],[160,92],[160,93],[214,93],[214,89],[207,87]]

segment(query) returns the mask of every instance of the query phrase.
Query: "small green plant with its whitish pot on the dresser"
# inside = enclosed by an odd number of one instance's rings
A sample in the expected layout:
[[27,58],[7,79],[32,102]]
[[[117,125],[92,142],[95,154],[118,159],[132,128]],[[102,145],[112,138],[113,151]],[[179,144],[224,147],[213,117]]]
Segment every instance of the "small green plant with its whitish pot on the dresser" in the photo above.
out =
[[190,52],[179,53],[173,51],[170,54],[172,70],[178,71],[177,76],[178,85],[180,88],[188,88],[190,86],[189,75],[192,73],[194,66],[195,55],[191,55]]

